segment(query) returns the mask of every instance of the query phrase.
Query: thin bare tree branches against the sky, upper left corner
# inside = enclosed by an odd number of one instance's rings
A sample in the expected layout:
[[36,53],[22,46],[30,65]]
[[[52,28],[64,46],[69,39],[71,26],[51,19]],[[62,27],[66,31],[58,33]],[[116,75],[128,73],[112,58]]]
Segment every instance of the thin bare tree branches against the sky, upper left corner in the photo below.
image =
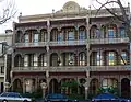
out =
[[0,24],[14,18],[16,14],[14,0],[0,0]]

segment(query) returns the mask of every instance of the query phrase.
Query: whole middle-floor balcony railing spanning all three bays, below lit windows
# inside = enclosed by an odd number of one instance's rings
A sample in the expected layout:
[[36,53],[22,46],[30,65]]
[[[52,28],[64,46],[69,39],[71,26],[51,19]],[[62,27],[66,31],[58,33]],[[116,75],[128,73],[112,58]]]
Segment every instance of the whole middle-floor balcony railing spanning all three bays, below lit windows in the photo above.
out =
[[58,66],[58,67],[49,67],[49,69],[47,67],[14,67],[12,69],[13,71],[24,71],[24,72],[31,72],[31,71],[52,71],[52,72],[61,72],[61,71],[66,71],[66,72],[82,72],[82,71],[86,71],[86,70],[91,70],[91,71],[126,71],[126,70],[130,70],[129,68],[127,68],[127,66]]

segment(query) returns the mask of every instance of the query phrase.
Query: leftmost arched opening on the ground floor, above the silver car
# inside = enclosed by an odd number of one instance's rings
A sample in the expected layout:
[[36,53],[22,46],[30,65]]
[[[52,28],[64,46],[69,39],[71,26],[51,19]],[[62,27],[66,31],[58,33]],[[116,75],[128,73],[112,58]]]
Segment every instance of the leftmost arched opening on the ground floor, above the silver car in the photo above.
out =
[[23,84],[22,81],[20,79],[15,79],[13,82],[13,91],[14,92],[23,92]]

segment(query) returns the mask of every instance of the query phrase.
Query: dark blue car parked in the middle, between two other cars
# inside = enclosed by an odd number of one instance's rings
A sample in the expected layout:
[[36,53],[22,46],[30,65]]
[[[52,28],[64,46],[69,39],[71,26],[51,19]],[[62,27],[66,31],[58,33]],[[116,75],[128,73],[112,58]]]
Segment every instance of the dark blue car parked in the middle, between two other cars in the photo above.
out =
[[67,95],[61,93],[51,93],[45,98],[46,102],[78,102],[76,100],[71,100]]

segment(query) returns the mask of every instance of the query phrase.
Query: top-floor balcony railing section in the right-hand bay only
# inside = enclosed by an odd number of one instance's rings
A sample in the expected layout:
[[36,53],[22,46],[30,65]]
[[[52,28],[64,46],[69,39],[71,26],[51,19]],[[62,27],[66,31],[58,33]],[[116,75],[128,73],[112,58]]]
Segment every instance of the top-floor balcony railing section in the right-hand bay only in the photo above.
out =
[[90,39],[90,44],[117,44],[117,43],[129,43],[129,38],[95,38]]

